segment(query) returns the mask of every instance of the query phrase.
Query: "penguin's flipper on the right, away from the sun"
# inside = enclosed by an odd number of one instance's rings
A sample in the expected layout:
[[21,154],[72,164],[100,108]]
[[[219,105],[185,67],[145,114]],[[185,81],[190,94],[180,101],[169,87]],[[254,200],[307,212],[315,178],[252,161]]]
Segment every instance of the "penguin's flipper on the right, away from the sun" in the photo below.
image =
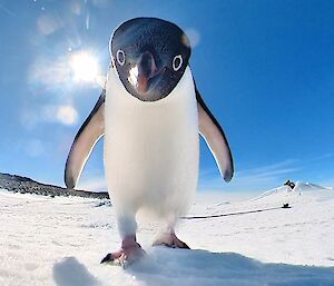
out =
[[230,181],[234,167],[232,152],[226,136],[216,118],[205,105],[196,87],[195,89],[198,109],[199,134],[205,139],[213,156],[215,157],[222,177],[224,180]]

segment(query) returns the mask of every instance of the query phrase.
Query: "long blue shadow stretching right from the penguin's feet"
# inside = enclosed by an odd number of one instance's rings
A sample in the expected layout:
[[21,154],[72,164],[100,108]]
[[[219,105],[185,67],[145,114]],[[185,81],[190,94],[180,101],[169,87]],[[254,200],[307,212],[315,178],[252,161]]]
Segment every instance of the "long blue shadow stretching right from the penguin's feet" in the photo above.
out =
[[199,249],[153,247],[147,254],[125,269],[147,286],[334,285],[334,267],[262,263],[236,253]]

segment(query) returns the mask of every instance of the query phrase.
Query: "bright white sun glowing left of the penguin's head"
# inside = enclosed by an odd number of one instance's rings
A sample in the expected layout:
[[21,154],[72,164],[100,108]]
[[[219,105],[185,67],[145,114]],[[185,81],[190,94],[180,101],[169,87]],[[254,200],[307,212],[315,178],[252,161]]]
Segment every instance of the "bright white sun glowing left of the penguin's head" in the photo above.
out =
[[98,60],[88,51],[78,51],[71,55],[69,65],[75,81],[97,81],[99,76]]

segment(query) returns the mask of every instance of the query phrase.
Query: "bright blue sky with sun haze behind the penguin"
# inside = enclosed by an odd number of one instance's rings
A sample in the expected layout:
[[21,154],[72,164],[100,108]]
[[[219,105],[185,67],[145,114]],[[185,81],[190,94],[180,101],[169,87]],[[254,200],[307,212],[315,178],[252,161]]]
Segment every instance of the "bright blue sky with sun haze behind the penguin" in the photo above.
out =
[[[0,171],[63,184],[122,21],[157,17],[190,38],[197,87],[228,138],[235,177],[200,140],[199,190],[259,191],[286,178],[334,186],[334,2],[0,0]],[[72,62],[91,55],[98,80]],[[94,65],[94,63],[91,63]],[[85,75],[84,75],[85,76]],[[102,190],[102,139],[78,187]]]

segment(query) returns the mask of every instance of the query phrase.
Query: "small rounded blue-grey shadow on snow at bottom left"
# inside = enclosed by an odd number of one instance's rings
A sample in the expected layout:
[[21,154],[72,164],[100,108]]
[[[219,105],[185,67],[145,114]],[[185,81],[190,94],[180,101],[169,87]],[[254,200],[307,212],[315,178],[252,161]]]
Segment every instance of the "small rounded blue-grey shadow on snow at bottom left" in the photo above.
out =
[[52,268],[52,274],[57,286],[100,285],[100,282],[75,257],[66,257],[61,262],[56,263]]

